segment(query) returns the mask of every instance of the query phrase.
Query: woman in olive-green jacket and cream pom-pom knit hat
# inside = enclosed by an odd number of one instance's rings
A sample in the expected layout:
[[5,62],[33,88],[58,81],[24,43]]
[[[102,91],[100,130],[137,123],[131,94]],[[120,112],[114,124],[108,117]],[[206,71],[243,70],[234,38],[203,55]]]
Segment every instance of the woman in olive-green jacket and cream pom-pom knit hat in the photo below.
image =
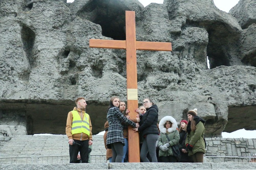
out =
[[204,123],[205,121],[198,117],[197,109],[189,110],[187,112],[187,137],[186,147],[188,149],[188,156],[192,156],[194,163],[203,162],[203,154],[205,153],[204,143]]

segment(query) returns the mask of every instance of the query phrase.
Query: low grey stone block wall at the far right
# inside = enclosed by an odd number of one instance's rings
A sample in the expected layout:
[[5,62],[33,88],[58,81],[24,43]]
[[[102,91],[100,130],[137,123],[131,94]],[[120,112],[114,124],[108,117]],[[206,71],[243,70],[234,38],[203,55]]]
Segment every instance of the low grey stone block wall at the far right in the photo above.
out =
[[[205,156],[256,156],[256,139],[205,138]],[[224,158],[215,159],[223,162]],[[248,160],[225,159],[225,161],[248,162]],[[251,161],[249,159],[249,161]]]

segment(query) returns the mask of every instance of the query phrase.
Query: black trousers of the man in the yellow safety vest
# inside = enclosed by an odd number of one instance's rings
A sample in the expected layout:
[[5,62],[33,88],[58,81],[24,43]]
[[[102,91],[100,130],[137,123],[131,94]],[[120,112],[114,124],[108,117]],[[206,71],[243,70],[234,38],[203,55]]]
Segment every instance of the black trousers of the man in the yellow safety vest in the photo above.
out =
[[69,156],[70,156],[69,163],[76,163],[78,152],[80,152],[82,163],[88,163],[89,140],[83,140],[83,141],[74,140],[74,141],[75,143],[73,145],[69,145]]

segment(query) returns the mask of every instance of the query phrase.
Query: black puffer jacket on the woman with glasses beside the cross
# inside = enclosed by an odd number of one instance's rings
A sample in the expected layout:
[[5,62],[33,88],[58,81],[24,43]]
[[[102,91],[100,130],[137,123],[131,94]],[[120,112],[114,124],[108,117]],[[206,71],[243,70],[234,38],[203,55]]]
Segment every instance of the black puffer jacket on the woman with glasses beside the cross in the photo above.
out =
[[146,110],[140,121],[139,132],[142,133],[143,137],[148,134],[159,134],[156,125],[158,121],[158,107],[153,105]]

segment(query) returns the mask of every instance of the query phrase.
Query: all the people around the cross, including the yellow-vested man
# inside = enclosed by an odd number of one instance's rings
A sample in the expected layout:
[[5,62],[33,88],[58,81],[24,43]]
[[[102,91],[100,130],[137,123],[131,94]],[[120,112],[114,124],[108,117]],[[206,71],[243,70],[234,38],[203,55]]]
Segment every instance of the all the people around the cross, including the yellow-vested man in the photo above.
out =
[[[79,97],[75,103],[66,125],[70,163],[76,163],[77,157],[88,163],[93,144],[91,121],[85,112],[85,98]],[[187,112],[188,121],[182,120],[180,128],[171,116],[163,117],[158,125],[158,107],[150,98],[145,98],[135,110],[135,119],[130,118],[130,110],[125,110],[125,102],[117,96],[110,98],[103,138],[106,158],[111,163],[128,162],[128,126],[139,132],[141,162],[203,162],[205,121],[198,117],[197,109]]]

